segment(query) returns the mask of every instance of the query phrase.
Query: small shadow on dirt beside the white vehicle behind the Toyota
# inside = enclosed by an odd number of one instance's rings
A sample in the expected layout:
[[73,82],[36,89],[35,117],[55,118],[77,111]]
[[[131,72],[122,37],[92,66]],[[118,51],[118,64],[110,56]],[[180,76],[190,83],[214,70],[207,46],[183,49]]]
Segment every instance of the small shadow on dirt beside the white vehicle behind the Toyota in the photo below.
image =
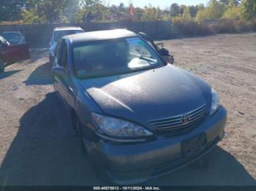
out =
[[52,68],[50,63],[43,63],[35,69],[28,79],[26,79],[26,85],[51,85],[53,84],[53,74],[50,71]]

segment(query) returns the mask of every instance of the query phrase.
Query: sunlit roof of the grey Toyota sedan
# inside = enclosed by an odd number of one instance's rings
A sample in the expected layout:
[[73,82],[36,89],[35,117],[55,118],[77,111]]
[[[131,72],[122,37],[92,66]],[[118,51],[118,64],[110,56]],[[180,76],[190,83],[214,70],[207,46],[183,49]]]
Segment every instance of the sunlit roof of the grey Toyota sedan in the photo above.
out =
[[132,31],[128,31],[127,29],[115,29],[108,31],[92,31],[81,34],[71,34],[68,36],[64,36],[63,39],[67,39],[71,44],[79,43],[79,42],[92,42],[99,40],[107,40],[107,39],[118,39],[125,38],[131,36],[138,36]]

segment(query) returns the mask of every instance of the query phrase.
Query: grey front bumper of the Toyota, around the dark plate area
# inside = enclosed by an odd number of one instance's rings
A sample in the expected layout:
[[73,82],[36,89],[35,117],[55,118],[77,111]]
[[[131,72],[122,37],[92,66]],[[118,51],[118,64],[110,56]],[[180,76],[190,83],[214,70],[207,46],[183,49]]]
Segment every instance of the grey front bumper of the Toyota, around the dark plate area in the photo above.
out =
[[[157,136],[157,140],[138,144],[97,143],[83,140],[97,173],[101,171],[116,184],[137,184],[183,167],[210,151],[224,137],[227,112],[221,106],[213,117],[184,135]],[[206,133],[203,150],[182,157],[181,142]]]

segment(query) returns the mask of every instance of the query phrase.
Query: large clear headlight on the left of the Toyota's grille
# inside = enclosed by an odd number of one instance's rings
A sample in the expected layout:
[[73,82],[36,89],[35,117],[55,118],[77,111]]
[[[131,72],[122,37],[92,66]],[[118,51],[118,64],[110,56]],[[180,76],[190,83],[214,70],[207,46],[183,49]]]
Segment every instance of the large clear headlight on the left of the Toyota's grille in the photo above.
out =
[[116,139],[135,139],[153,134],[139,125],[113,117],[93,113],[95,122],[99,125],[97,133],[111,136]]

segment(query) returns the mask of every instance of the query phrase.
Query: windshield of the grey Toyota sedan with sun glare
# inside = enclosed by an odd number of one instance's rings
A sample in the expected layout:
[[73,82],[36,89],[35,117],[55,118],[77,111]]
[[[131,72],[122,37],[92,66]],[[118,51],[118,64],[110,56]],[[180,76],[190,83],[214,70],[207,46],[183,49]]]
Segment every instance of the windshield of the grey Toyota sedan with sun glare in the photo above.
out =
[[78,78],[125,74],[164,65],[138,36],[80,43],[73,48],[73,61]]

